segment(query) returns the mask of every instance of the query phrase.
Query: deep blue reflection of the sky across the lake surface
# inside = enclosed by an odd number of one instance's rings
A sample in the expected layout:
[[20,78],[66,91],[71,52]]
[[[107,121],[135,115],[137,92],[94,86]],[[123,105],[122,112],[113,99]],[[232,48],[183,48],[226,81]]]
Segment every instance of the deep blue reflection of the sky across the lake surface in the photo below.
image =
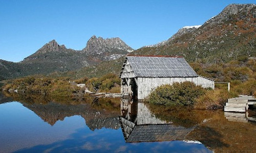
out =
[[0,152],[208,152],[182,141],[125,143],[121,129],[91,131],[80,116],[51,126],[17,102],[0,105],[0,136]]

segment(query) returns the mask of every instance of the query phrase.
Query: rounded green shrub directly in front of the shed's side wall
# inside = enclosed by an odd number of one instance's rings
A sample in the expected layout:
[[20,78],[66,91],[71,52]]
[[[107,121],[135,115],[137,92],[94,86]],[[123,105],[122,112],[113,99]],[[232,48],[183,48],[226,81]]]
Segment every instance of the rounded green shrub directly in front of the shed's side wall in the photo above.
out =
[[205,92],[206,89],[192,82],[174,83],[156,88],[145,100],[156,105],[189,106],[195,104],[195,99]]

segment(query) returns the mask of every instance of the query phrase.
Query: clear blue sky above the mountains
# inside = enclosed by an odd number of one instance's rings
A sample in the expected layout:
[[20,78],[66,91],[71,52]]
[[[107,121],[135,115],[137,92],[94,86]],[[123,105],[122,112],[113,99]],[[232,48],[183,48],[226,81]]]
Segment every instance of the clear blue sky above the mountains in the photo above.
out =
[[256,0],[0,0],[0,59],[22,61],[53,39],[81,50],[93,35],[119,37],[138,49],[203,24],[233,3]]

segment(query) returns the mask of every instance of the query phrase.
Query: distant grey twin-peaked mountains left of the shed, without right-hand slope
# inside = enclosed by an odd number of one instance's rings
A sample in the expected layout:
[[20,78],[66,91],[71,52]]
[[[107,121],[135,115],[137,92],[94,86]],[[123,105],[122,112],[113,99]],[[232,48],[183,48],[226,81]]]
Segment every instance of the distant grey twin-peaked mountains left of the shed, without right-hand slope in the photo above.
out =
[[21,62],[0,60],[0,80],[76,70],[102,61],[115,60],[132,51],[133,48],[120,38],[92,36],[82,50],[68,49],[52,40]]

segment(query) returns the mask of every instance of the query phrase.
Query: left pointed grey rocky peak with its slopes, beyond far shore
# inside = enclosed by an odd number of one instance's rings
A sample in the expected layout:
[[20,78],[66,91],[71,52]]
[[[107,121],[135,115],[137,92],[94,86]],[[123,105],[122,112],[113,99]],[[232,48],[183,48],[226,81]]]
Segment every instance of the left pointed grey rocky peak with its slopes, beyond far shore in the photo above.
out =
[[23,76],[70,71],[89,65],[87,57],[81,52],[67,49],[65,45],[59,45],[55,40],[46,43],[19,64],[23,66]]

